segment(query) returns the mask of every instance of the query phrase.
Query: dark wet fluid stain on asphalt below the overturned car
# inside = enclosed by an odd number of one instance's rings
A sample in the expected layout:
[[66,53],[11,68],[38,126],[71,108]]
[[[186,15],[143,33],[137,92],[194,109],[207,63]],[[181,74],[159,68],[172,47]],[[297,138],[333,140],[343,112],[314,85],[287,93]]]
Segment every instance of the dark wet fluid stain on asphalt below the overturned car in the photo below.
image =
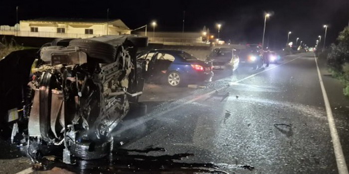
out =
[[[40,165],[34,168],[37,172],[48,171],[53,168],[60,168],[77,174],[163,174],[164,172],[175,172],[180,174],[227,174],[219,170],[221,164],[214,163],[180,163],[177,161],[183,158],[187,159],[194,156],[190,153],[181,153],[174,155],[150,156],[144,153],[165,152],[164,148],[147,147],[144,150],[138,149],[117,149],[111,156],[98,160],[81,160],[74,159],[74,165],[62,163],[61,158],[57,157],[52,160],[43,158]],[[224,167],[225,168],[225,167]],[[253,170],[250,165],[235,165],[228,167],[230,169],[247,169]]]

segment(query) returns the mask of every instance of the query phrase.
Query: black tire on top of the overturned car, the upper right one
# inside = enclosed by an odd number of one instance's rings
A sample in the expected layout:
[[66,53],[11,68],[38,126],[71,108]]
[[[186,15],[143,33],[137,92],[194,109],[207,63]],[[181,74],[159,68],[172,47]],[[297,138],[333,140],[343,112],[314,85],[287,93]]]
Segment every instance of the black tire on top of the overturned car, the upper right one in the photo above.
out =
[[99,63],[112,63],[115,61],[116,48],[104,42],[89,39],[74,39],[69,42],[69,46],[79,47],[89,57],[97,59]]

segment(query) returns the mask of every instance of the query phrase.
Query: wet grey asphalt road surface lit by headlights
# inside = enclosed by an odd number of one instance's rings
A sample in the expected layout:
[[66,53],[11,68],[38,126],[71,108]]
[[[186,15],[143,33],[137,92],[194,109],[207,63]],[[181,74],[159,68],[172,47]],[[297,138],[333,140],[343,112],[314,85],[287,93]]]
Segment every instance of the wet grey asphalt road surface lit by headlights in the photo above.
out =
[[[324,61],[319,66],[349,162],[349,99]],[[231,77],[216,74],[206,88],[145,89],[141,99],[149,112],[129,115],[116,128],[113,157],[75,165],[56,158],[43,166],[80,174],[338,174],[312,53],[287,56],[283,64],[256,71],[241,67]],[[15,174],[30,166],[23,160],[4,156],[0,168]]]

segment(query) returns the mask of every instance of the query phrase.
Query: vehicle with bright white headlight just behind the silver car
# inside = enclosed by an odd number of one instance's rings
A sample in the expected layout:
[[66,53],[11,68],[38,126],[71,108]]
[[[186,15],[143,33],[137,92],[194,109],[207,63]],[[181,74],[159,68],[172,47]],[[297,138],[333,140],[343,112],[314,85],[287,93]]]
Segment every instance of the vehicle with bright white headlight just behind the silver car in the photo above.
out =
[[252,66],[253,69],[263,66],[263,56],[256,48],[246,48],[239,51],[241,66]]

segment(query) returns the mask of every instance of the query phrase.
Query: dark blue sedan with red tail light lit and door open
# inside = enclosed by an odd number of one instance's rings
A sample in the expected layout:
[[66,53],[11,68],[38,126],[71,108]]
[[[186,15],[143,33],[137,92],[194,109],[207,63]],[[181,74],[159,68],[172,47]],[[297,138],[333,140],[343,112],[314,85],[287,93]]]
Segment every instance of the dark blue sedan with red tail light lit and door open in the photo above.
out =
[[151,50],[138,54],[139,64],[146,64],[145,79],[162,81],[172,87],[210,82],[212,63],[177,50]]

